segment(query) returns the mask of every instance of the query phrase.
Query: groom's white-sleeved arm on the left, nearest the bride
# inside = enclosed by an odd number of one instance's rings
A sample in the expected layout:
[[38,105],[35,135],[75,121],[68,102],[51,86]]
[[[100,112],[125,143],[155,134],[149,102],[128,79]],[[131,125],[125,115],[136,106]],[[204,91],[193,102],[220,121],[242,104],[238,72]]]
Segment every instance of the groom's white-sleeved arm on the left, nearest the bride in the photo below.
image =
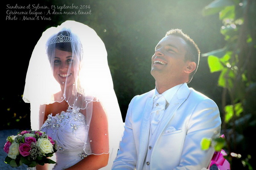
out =
[[122,141],[119,145],[119,150],[116,159],[113,162],[112,170],[134,170],[137,164],[137,150],[134,141],[132,121],[131,121],[131,108],[134,102],[135,96],[128,107],[128,111],[125,118],[125,130],[122,137]]

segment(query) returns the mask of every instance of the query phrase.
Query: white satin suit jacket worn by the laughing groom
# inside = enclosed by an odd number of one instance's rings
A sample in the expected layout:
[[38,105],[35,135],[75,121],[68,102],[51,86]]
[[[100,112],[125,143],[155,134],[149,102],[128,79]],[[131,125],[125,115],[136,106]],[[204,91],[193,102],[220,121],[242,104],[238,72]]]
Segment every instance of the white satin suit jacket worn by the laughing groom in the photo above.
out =
[[148,170],[208,167],[214,150],[201,150],[201,139],[220,134],[221,119],[215,102],[184,83],[149,141],[153,94],[154,90],[131,100],[112,170],[142,170],[145,162]]

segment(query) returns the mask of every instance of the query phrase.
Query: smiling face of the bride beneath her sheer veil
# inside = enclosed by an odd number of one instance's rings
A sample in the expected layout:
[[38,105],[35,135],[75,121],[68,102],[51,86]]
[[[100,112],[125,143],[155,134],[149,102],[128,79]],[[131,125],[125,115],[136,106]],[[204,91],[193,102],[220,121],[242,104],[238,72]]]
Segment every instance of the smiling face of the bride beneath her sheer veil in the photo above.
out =
[[79,62],[71,52],[61,51],[55,48],[54,63],[52,65],[53,76],[60,85],[67,87],[74,84],[78,70]]

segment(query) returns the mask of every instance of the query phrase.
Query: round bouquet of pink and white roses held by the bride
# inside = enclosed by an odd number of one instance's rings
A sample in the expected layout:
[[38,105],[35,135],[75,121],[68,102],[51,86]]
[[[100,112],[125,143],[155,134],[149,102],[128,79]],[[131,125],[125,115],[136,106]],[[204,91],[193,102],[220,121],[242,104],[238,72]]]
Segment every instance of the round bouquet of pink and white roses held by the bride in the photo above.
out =
[[5,162],[12,167],[26,164],[35,167],[37,164],[55,164],[48,159],[57,151],[56,141],[40,130],[23,130],[16,136],[8,136],[4,145],[7,153]]

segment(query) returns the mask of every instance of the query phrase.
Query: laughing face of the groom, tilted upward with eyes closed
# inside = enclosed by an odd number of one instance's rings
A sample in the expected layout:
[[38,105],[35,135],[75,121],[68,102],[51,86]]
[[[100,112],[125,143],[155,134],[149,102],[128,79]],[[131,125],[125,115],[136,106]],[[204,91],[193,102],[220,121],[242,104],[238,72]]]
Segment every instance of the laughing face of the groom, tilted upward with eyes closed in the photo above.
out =
[[184,72],[186,42],[181,37],[169,35],[163,37],[155,47],[155,54],[151,61],[151,74],[157,79],[167,79],[179,82],[186,77]]

